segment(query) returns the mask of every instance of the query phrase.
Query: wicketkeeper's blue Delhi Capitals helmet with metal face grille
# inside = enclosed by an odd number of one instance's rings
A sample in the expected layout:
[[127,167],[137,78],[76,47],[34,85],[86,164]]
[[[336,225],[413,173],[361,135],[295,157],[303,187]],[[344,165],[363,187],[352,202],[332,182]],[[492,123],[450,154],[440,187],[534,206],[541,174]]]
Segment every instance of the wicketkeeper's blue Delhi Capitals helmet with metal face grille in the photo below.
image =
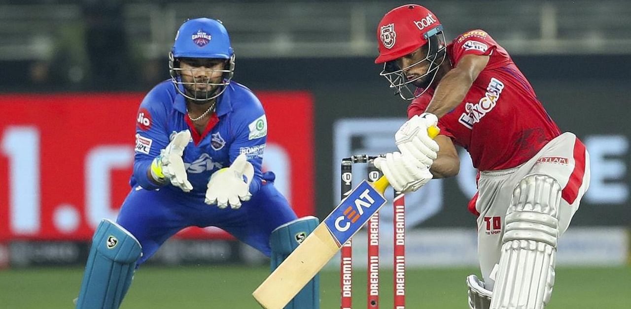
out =
[[[223,69],[214,71],[223,74],[221,81],[211,82],[207,79],[200,81],[194,79],[192,82],[182,81],[182,69],[180,68],[180,59],[182,58],[225,59],[226,65]],[[210,18],[195,18],[185,21],[175,35],[175,42],[169,53],[168,67],[175,89],[187,99],[208,101],[220,96],[225,91],[226,86],[230,84],[235,69],[235,54],[230,45],[228,31],[221,21]],[[191,90],[197,89],[196,84],[200,83],[212,86],[213,91]]]

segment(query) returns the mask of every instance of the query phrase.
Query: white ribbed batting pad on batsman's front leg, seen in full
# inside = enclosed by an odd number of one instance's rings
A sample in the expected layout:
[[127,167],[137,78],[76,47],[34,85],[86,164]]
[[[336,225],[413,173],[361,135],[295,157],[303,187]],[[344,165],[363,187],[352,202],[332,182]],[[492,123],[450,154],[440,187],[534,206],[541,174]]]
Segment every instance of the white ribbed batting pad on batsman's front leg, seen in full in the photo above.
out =
[[529,174],[513,190],[491,309],[540,309],[550,301],[560,199],[560,185],[546,174]]

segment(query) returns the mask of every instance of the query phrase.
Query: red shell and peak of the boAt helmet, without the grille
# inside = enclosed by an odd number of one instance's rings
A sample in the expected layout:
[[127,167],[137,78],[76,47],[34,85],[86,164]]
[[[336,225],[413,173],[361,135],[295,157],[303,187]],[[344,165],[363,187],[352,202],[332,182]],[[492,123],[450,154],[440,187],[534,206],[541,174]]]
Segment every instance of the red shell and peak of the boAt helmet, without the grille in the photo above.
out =
[[438,18],[418,4],[406,4],[389,11],[377,26],[379,57],[375,64],[392,61],[427,44],[442,31]]

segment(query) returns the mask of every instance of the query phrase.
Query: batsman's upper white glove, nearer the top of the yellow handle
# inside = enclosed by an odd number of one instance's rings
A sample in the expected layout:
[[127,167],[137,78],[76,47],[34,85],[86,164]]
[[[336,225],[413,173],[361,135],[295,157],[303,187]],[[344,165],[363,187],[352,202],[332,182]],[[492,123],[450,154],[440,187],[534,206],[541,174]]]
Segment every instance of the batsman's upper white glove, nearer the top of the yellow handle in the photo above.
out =
[[415,115],[406,121],[394,134],[394,140],[401,154],[416,159],[418,167],[432,166],[439,150],[438,143],[427,133],[430,126],[436,126],[438,118],[430,113]]

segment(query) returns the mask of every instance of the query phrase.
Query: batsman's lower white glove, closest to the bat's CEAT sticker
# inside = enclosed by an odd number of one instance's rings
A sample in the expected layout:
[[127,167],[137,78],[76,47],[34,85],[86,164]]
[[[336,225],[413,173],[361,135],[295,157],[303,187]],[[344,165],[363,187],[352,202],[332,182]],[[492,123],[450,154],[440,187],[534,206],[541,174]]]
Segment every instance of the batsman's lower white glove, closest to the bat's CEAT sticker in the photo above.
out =
[[392,188],[401,193],[410,193],[421,188],[433,177],[427,166],[418,167],[415,160],[396,151],[389,152],[385,158],[379,157],[374,162]]

